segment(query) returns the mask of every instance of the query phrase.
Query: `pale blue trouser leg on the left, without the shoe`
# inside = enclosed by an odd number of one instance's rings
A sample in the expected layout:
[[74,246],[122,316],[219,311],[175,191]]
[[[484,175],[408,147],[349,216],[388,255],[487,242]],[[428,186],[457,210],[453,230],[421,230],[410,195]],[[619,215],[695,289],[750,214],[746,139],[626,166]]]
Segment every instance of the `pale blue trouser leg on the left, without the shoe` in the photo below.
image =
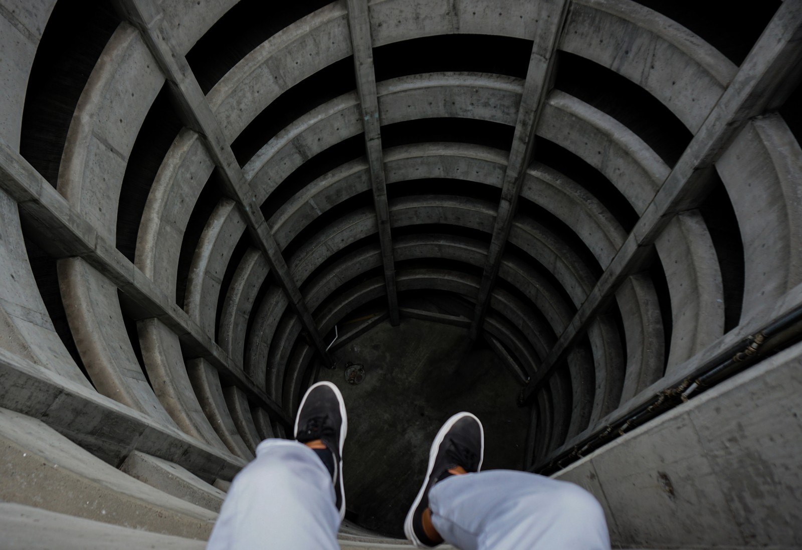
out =
[[339,550],[331,475],[309,447],[265,439],[237,474],[206,550]]

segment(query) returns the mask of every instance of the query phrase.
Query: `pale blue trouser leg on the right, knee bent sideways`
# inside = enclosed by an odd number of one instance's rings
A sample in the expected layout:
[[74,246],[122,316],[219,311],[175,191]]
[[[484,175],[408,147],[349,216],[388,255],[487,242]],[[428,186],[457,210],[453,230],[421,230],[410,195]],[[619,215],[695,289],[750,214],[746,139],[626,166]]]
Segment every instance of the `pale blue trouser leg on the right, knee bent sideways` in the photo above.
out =
[[429,491],[431,522],[460,550],[610,550],[585,489],[525,471],[454,475]]

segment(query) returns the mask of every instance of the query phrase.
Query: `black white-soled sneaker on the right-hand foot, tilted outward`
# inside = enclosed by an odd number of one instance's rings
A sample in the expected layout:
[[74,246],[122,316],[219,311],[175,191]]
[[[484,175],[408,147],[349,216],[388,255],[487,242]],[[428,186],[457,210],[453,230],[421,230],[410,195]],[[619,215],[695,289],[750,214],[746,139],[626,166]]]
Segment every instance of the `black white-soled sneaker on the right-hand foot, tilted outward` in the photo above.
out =
[[418,496],[412,503],[403,532],[417,548],[432,547],[438,543],[423,532],[421,515],[429,508],[429,490],[438,481],[452,475],[453,467],[464,467],[465,471],[479,471],[484,459],[484,430],[476,416],[468,412],[457,413],[444,423],[431,443],[429,467]]

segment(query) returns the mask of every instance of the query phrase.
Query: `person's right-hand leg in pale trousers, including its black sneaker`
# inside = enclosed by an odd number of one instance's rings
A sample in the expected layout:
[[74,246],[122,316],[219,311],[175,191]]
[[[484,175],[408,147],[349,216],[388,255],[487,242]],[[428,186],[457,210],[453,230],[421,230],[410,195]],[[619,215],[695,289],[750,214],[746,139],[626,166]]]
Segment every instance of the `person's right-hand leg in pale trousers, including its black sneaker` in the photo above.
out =
[[484,431],[460,413],[431,444],[423,485],[404,533],[418,548],[609,550],[602,507],[573,483],[522,471],[480,471]]

